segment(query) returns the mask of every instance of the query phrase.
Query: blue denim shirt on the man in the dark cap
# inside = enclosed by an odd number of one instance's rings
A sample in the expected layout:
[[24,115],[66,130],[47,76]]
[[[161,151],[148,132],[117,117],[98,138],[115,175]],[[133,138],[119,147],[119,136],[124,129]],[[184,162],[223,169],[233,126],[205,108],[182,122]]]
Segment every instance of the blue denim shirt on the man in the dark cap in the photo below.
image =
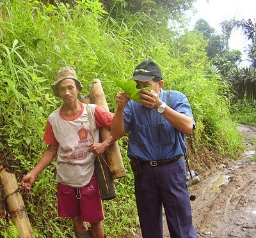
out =
[[[193,119],[188,98],[178,91],[160,91],[159,98],[177,112]],[[130,100],[124,109],[125,131],[130,132],[128,157],[145,161],[168,160],[184,154],[175,128],[156,109]],[[193,125],[195,122],[193,119]],[[182,144],[184,134],[181,133]]]

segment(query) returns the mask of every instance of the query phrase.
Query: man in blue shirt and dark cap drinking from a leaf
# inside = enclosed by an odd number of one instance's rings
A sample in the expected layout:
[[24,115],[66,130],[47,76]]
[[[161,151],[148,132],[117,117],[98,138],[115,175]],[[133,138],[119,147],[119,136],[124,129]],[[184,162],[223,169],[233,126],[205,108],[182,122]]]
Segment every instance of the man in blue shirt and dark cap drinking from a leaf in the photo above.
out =
[[163,237],[163,207],[171,237],[195,238],[182,156],[184,134],[195,128],[188,99],[178,91],[163,90],[161,69],[153,61],[138,64],[130,80],[138,89],[151,91],[139,93],[140,103],[129,94],[117,94],[111,135],[118,139],[130,132],[127,155],[143,238]]

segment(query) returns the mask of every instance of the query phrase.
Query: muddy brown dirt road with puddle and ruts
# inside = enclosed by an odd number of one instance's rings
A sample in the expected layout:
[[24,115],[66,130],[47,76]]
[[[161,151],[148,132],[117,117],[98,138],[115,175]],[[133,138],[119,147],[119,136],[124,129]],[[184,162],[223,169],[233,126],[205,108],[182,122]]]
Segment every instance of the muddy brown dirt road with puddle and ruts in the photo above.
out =
[[239,125],[239,130],[246,145],[243,159],[220,165],[189,190],[196,196],[191,206],[199,237],[256,237],[256,127]]

